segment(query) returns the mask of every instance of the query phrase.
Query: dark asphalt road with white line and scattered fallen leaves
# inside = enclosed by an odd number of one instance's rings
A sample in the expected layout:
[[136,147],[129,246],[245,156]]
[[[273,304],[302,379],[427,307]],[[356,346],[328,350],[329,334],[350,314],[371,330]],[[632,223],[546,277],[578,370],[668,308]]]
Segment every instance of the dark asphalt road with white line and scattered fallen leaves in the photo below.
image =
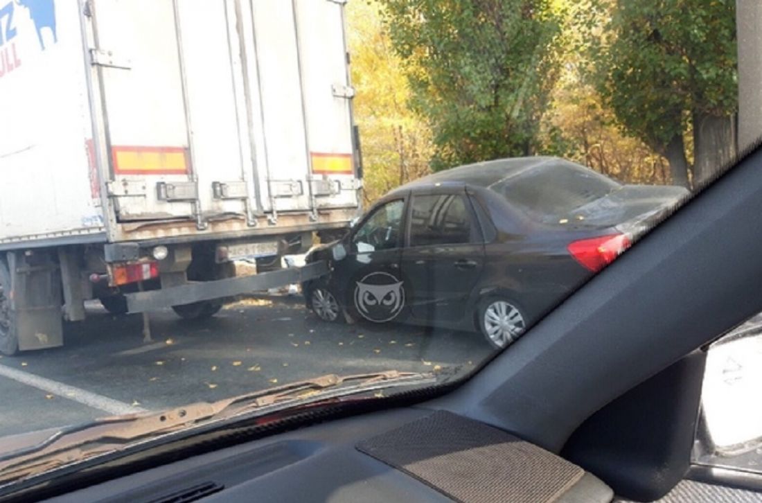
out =
[[0,359],[0,436],[125,412],[223,399],[326,373],[469,370],[491,349],[475,333],[321,322],[301,296],[226,306],[188,322],[111,316],[99,304],[66,328],[65,345]]

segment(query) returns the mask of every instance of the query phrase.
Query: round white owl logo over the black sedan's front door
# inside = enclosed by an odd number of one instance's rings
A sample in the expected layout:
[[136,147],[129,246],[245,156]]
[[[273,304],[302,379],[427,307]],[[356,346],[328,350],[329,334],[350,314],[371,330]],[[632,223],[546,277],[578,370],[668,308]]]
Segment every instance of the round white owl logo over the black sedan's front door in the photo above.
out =
[[357,281],[354,305],[363,318],[371,322],[390,322],[405,307],[405,289],[402,281],[392,274],[374,272]]

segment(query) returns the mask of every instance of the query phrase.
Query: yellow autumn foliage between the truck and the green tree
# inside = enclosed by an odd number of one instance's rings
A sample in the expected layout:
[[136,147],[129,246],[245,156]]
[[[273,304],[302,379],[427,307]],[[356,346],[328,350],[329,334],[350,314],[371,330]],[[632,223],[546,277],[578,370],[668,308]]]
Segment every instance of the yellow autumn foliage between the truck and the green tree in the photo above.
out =
[[363,145],[365,200],[372,203],[393,187],[427,175],[431,131],[408,109],[410,89],[402,62],[381,20],[383,5],[347,3],[354,118]]

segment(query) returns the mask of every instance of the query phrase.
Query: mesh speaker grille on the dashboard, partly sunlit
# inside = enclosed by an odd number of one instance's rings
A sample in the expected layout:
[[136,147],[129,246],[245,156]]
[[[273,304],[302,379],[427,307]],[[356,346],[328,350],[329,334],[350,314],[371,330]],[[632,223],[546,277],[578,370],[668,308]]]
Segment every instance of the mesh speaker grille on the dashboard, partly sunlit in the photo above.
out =
[[584,470],[504,431],[450,412],[408,423],[357,444],[459,501],[556,501]]

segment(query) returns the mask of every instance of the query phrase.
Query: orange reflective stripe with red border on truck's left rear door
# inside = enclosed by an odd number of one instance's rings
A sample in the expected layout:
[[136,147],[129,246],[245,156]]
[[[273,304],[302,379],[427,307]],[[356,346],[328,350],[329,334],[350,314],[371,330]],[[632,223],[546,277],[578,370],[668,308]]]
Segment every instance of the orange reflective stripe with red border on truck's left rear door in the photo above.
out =
[[188,155],[183,147],[113,146],[117,175],[187,175]]

